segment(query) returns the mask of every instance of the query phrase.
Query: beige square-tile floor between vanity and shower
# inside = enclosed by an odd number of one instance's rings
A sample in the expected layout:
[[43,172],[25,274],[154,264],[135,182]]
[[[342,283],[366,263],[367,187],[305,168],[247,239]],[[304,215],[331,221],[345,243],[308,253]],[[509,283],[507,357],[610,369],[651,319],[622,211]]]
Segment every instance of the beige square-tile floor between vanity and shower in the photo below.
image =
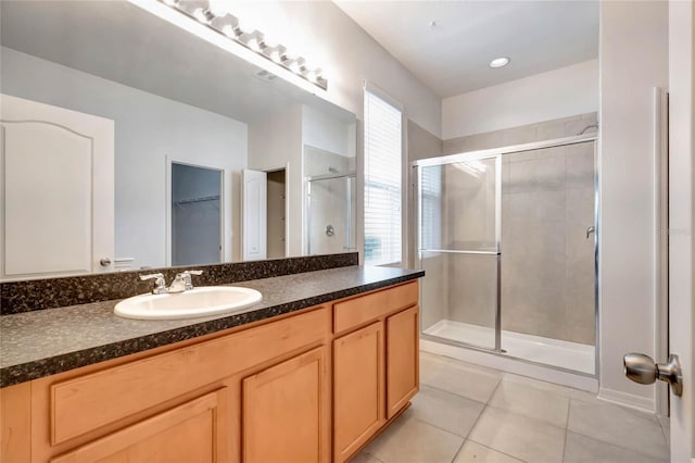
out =
[[668,421],[422,352],[413,406],[353,463],[668,462]]

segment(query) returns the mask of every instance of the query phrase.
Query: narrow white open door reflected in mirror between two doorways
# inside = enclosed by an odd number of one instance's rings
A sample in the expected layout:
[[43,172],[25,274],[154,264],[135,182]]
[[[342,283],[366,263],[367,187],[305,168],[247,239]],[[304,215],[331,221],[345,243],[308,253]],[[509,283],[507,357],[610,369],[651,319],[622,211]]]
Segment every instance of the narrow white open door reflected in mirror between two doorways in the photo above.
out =
[[257,261],[266,258],[267,177],[265,172],[248,168],[241,171],[241,242],[244,261]]

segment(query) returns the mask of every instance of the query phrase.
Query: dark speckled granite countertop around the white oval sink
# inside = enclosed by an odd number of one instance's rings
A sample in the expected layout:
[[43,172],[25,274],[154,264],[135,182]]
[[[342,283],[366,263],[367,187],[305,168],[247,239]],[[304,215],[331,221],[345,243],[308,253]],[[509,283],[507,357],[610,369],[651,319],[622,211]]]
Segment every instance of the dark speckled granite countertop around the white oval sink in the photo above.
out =
[[114,315],[117,300],[0,316],[0,387],[290,313],[424,276],[348,266],[241,281],[263,300],[243,313],[140,321]]

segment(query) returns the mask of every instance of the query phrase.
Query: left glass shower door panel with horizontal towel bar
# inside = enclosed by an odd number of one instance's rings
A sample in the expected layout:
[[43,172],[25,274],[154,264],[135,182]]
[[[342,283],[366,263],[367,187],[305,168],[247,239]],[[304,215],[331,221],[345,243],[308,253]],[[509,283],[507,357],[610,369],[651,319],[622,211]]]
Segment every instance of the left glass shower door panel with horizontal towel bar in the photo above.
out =
[[426,336],[501,350],[500,155],[416,164]]

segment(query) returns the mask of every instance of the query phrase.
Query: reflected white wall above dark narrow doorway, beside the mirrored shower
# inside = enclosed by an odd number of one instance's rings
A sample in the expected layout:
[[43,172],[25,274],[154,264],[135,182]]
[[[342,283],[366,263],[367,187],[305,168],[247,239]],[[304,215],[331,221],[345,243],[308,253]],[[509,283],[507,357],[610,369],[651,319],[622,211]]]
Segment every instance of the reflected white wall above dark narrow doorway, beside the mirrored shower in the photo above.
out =
[[287,215],[289,230],[288,254],[302,254],[304,221],[302,172],[302,105],[288,107],[263,121],[249,125],[249,168],[274,171],[287,165],[286,183],[290,214]]

